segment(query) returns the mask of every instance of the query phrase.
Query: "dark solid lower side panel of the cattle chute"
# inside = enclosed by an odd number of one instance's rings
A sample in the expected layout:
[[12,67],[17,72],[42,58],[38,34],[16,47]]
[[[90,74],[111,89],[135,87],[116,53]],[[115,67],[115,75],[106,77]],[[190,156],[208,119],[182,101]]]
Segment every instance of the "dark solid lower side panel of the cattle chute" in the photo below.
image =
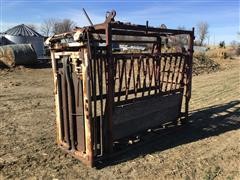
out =
[[181,93],[170,94],[115,107],[114,139],[127,137],[177,119],[181,97]]

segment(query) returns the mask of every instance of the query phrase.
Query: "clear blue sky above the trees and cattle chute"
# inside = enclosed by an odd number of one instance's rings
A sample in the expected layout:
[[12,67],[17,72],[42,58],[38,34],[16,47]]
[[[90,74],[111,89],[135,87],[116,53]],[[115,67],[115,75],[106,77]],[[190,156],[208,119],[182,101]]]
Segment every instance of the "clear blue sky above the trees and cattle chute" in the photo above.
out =
[[3,32],[17,24],[35,24],[44,19],[69,18],[79,26],[89,25],[83,16],[84,7],[94,23],[104,21],[105,12],[117,11],[116,20],[168,28],[185,26],[191,29],[200,21],[209,24],[209,41],[218,44],[225,40],[240,40],[239,0],[0,0]]

